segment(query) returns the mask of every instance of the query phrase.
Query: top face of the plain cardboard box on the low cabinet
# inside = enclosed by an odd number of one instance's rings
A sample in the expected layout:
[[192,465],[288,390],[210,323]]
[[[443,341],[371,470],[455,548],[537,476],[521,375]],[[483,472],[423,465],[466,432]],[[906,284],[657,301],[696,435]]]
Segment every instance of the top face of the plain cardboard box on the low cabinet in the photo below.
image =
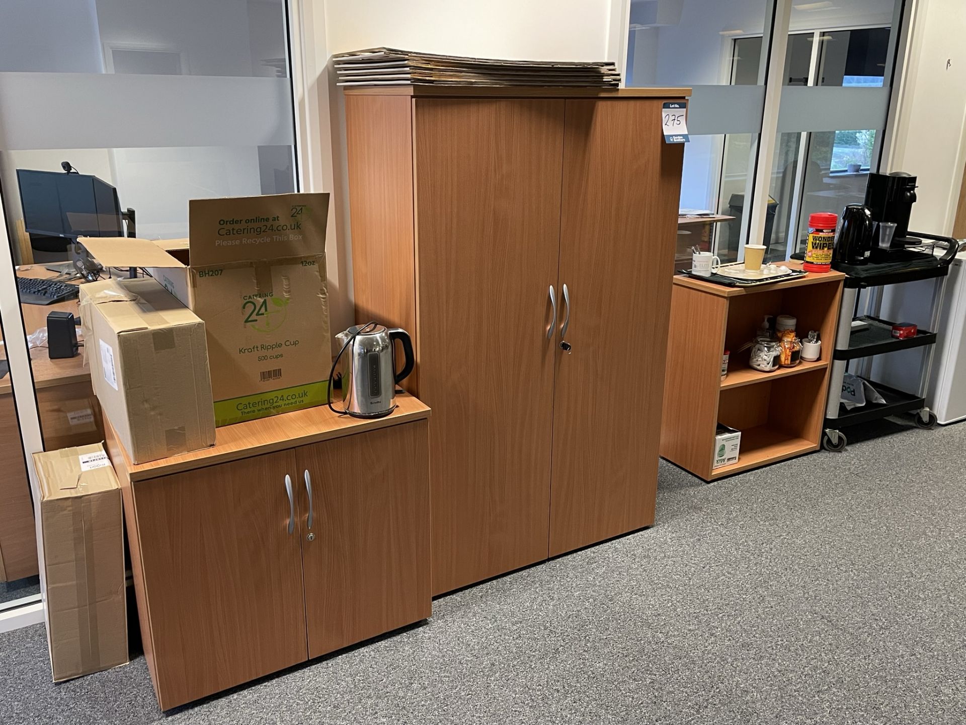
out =
[[[115,333],[193,325],[198,316],[172,297],[154,279],[117,279],[83,284],[80,287],[81,319],[87,304],[98,304],[100,313]],[[87,328],[85,326],[85,335]]]

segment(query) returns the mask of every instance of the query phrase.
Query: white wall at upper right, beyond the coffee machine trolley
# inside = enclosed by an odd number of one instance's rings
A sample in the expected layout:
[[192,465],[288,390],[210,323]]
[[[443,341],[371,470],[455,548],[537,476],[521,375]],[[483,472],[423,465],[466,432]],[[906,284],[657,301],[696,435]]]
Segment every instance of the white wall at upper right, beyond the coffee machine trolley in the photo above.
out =
[[934,234],[952,234],[966,162],[963,38],[962,0],[919,0],[885,170],[919,177],[910,227]]

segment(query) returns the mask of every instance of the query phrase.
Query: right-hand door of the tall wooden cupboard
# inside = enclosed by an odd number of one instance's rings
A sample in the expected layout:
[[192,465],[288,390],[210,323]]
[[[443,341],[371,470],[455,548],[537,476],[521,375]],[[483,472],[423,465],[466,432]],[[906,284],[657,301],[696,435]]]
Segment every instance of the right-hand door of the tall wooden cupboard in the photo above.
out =
[[551,556],[654,522],[683,155],[660,114],[660,100],[566,102],[572,351],[556,365]]

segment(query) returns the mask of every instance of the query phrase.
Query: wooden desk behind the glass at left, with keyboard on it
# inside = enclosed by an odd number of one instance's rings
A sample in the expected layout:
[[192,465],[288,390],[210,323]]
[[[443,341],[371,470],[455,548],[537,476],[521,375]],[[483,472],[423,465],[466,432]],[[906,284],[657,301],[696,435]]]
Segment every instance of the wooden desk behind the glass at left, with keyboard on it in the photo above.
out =
[[[18,276],[49,278],[55,273],[41,265],[22,267]],[[27,334],[46,327],[49,312],[77,314],[77,301],[58,304],[22,304]],[[6,359],[0,349],[0,360]],[[43,448],[56,450],[103,440],[100,408],[91,388],[89,368],[83,354],[66,360],[50,360],[47,348],[30,351],[34,387],[41,418]],[[30,500],[27,470],[20,446],[11,376],[0,379],[0,581],[13,581],[38,572],[34,509]]]

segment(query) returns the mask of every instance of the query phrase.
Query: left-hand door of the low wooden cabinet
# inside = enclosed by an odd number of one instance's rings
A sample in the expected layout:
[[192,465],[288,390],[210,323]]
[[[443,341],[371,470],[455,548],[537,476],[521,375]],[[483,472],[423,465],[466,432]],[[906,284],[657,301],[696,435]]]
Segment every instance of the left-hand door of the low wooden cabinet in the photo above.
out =
[[295,458],[133,483],[163,710],[306,659]]

